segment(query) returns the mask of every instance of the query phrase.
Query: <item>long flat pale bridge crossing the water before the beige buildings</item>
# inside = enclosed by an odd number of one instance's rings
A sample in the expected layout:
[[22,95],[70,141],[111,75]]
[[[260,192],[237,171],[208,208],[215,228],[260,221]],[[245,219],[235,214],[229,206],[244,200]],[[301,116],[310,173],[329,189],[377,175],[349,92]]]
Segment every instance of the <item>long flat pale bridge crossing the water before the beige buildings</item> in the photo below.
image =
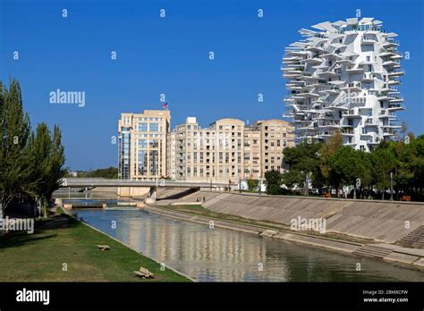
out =
[[86,197],[89,188],[96,187],[148,187],[150,188],[150,198],[156,199],[157,188],[225,188],[237,185],[235,183],[225,182],[195,182],[195,181],[171,181],[157,179],[157,181],[131,181],[131,180],[113,180],[104,178],[80,179],[64,178],[61,180],[61,188],[84,188]]

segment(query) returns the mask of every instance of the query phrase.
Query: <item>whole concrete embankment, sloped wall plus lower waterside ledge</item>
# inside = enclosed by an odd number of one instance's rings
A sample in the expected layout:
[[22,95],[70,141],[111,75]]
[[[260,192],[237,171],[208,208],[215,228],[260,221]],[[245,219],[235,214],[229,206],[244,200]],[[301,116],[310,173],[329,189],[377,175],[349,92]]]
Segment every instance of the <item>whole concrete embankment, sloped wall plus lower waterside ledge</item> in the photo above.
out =
[[[198,191],[179,200],[165,200],[158,205],[196,202],[210,211],[231,214],[246,219],[280,223],[290,227],[292,219],[326,219],[326,232],[340,236],[366,239],[356,243],[348,239],[328,239],[309,235],[302,231],[270,230],[261,225],[246,225],[237,222],[214,220],[214,225],[239,231],[247,231],[273,239],[281,239],[320,248],[350,253],[356,256],[371,256],[396,263],[424,267],[424,249],[404,248],[394,242],[417,231],[424,224],[424,204],[377,202],[367,200],[345,200],[328,198],[270,197],[251,194]],[[147,206],[153,213],[165,214],[196,223],[208,225],[211,218],[175,212],[159,206]],[[423,237],[424,238],[424,237]]]

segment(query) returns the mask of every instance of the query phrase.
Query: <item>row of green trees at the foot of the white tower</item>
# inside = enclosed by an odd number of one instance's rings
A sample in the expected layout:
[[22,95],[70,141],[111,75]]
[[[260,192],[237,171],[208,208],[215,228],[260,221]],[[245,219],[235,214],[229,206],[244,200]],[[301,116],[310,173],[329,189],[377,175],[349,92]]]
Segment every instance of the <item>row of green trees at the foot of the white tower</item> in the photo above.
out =
[[394,199],[423,199],[424,135],[409,133],[406,142],[383,140],[366,152],[343,146],[338,132],[327,143],[305,141],[285,148],[284,164],[287,172],[266,173],[268,193],[294,190],[308,195],[311,186],[318,195],[347,189],[346,197],[385,199],[393,189]]

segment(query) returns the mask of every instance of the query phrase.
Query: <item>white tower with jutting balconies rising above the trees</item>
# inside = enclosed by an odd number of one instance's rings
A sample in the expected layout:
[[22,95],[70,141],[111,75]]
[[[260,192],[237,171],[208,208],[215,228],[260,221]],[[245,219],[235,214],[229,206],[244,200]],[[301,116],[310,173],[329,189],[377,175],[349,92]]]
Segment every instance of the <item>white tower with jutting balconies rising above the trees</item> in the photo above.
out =
[[286,48],[285,116],[293,121],[296,143],[326,141],[340,130],[345,145],[369,151],[397,135],[403,56],[397,34],[382,24],[373,18],[325,21],[301,29],[303,38]]

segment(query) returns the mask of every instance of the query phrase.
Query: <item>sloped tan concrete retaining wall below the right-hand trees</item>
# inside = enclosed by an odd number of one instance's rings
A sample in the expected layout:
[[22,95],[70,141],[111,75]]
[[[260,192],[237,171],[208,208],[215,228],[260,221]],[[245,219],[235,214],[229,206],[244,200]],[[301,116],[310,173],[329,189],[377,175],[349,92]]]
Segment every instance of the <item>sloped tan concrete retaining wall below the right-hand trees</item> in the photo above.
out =
[[[199,191],[202,206],[223,214],[291,224],[293,218],[326,218],[326,231],[394,243],[424,224],[424,204],[327,198],[270,197]],[[192,201],[192,196],[183,198]],[[410,228],[405,228],[409,222]]]

